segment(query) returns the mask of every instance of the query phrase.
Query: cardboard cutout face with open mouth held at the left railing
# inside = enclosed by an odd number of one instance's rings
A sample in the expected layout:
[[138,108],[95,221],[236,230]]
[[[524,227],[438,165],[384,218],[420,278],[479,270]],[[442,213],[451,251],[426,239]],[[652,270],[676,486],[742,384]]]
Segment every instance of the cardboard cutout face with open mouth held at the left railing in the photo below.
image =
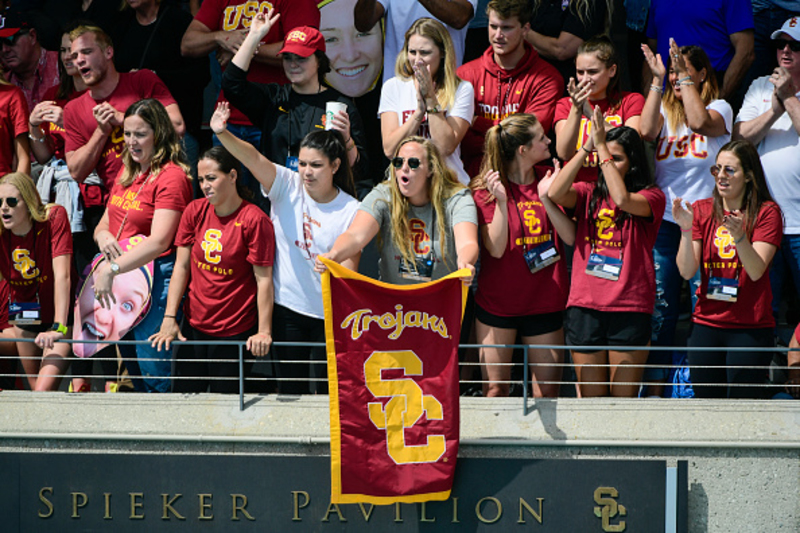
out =
[[[145,238],[136,235],[122,239],[119,245],[124,253]],[[111,305],[111,309],[105,309],[94,297],[94,275],[103,261],[102,254],[95,256],[78,287],[72,333],[74,341],[118,341],[141,322],[150,310],[153,262],[116,276],[112,291],[117,302]],[[72,348],[77,357],[91,357],[106,346],[107,343],[73,344]]]

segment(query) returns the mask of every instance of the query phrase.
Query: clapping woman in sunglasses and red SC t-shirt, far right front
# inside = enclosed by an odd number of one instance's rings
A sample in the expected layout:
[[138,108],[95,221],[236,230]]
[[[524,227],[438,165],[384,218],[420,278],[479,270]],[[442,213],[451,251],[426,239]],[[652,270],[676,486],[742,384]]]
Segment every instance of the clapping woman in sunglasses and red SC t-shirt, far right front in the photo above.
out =
[[[768,269],[783,237],[783,218],[772,200],[755,147],[732,141],[711,167],[711,198],[693,204],[676,198],[680,226],[677,265],[684,279],[700,270],[692,315],[690,351],[694,393],[699,398],[765,398],[775,319]],[[726,348],[751,347],[751,351]],[[725,385],[728,385],[727,387]]]

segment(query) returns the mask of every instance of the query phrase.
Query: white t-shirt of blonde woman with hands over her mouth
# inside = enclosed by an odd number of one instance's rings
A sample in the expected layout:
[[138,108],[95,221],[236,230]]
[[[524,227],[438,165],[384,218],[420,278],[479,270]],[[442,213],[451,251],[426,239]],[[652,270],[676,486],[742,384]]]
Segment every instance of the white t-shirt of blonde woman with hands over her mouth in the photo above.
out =
[[[387,81],[381,90],[381,103],[378,107],[378,116],[387,111],[397,113],[397,125],[402,126],[414,111],[417,109],[417,90],[414,87],[414,80],[409,78],[403,80],[394,77]],[[445,116],[458,117],[472,123],[472,117],[475,114],[475,90],[472,84],[468,81],[462,81],[458,84],[456,90],[456,98],[453,105],[445,110]],[[431,138],[431,130],[428,126],[428,117],[422,121],[419,131],[416,135],[426,139]],[[469,175],[464,170],[464,163],[461,161],[461,145],[459,144],[455,151],[450,154],[445,163],[447,167],[455,171],[458,181],[464,185],[469,184]]]

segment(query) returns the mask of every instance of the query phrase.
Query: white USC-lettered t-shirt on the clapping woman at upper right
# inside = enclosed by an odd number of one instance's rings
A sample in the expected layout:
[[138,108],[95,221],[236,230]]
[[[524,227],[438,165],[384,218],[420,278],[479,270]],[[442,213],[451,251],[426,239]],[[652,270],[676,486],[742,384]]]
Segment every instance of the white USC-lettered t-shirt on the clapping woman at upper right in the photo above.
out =
[[714,191],[714,176],[710,169],[716,164],[719,149],[731,140],[733,109],[725,100],[714,100],[706,109],[722,116],[726,133],[707,138],[694,133],[686,124],[681,124],[677,131],[669,131],[667,114],[661,107],[664,126],[656,145],[656,185],[667,196],[664,220],[675,222],[672,218],[672,200],[675,198],[693,203],[709,198]]

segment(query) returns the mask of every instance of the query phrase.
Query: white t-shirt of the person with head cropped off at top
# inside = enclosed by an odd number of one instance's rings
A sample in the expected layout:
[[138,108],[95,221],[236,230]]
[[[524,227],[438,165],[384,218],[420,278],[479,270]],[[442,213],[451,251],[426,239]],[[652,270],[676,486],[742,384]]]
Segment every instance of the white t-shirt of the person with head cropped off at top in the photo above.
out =
[[[417,19],[428,17],[436,19],[431,12],[425,9],[417,0],[378,0],[386,11],[386,39],[383,43],[383,82],[394,77],[394,64],[406,38],[406,31]],[[472,4],[472,16],[478,9],[478,0],[469,0]],[[437,19],[438,20],[438,19]],[[441,20],[439,22],[442,22]],[[444,24],[442,22],[442,24]],[[456,66],[461,66],[464,59],[464,42],[467,39],[469,24],[460,30],[444,24],[447,32],[453,39],[453,48],[456,51]]]

